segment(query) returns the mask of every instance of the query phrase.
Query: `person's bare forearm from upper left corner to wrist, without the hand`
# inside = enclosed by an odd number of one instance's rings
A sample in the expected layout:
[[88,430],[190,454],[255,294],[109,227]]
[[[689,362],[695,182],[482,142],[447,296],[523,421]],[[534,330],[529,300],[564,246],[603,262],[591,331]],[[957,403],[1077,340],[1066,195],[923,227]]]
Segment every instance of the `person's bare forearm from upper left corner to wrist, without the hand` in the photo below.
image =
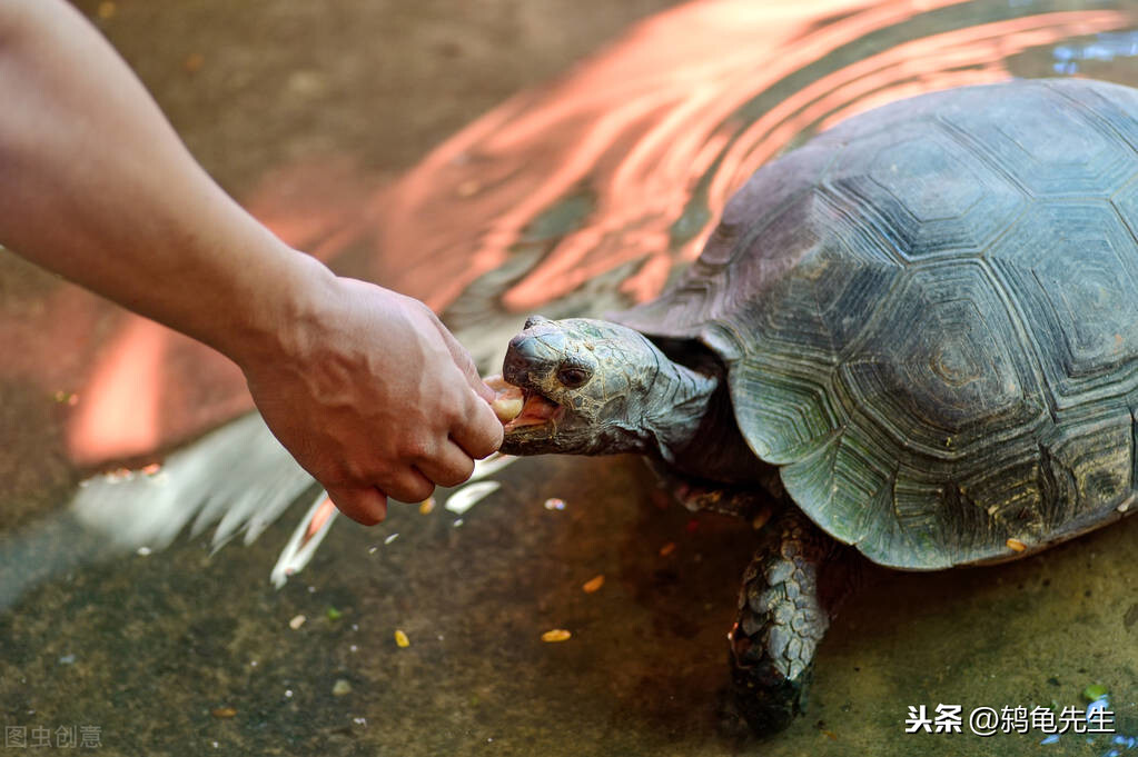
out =
[[59,0],[0,2],[0,243],[240,361],[330,276],[191,158]]

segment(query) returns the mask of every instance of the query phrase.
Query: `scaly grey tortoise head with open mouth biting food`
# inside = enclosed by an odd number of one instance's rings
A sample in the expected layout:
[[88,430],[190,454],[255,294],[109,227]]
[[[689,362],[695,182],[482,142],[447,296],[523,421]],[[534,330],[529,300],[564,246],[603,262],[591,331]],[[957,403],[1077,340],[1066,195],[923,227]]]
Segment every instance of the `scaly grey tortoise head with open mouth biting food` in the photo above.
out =
[[677,400],[714,388],[640,332],[591,318],[530,317],[510,340],[502,377],[525,398],[505,426],[511,455],[655,452]]

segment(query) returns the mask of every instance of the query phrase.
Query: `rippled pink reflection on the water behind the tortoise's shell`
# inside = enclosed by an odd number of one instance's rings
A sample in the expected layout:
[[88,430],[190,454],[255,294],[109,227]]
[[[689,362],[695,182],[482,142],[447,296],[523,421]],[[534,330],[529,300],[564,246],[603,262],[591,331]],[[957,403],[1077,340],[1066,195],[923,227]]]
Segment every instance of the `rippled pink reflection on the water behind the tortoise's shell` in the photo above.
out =
[[[698,255],[727,197],[803,131],[900,97],[1006,78],[1008,56],[1128,23],[1087,10],[935,34],[855,61],[737,123],[748,102],[843,44],[957,2],[709,0],[661,14],[545,92],[489,113],[399,182],[377,219],[380,249],[418,256],[384,274],[443,309],[502,266],[536,216],[584,186],[595,198],[589,217],[501,305],[534,310],[636,261],[621,289],[643,301]],[[673,249],[669,230],[709,170],[708,219]]]

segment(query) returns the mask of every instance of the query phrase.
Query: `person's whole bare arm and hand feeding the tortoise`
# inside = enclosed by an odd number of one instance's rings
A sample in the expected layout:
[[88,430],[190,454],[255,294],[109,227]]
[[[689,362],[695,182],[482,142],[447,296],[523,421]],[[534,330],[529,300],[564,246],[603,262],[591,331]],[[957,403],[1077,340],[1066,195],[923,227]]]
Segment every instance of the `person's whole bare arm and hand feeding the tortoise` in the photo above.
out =
[[236,361],[346,515],[378,523],[498,447],[494,392],[438,318],[274,238],[67,3],[0,2],[0,244]]

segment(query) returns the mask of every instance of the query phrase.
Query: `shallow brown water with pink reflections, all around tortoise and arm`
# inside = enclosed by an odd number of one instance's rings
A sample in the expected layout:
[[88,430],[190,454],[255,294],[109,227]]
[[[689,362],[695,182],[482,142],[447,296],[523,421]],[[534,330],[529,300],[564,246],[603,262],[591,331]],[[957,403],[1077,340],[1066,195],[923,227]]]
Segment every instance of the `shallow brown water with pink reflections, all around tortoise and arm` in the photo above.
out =
[[[100,23],[270,225],[428,299],[487,366],[530,310],[652,297],[754,166],[842,116],[1007,76],[1138,85],[1138,3],[629,7],[124,2]],[[622,31],[636,14],[648,19]],[[602,38],[615,41],[570,67]],[[184,66],[192,53],[200,70]],[[520,84],[536,89],[471,123]],[[230,113],[250,99],[262,113]],[[396,109],[413,127],[389,125],[391,102],[414,106]],[[272,139],[258,141],[265,120]],[[432,142],[418,160],[402,151]],[[190,482],[173,498],[184,530],[116,546],[99,524],[123,536],[143,518],[116,508],[158,500],[123,493],[101,519],[73,514],[81,466],[150,461],[246,407],[239,381],[2,263],[0,707],[28,743],[48,732],[66,748],[74,727],[76,744],[98,735],[123,755],[1103,755],[1138,734],[1133,521],[1001,567],[875,573],[822,647],[808,714],[765,742],[721,714],[750,529],[669,506],[634,459],[521,460],[477,501],[440,492],[370,531],[336,521],[279,591],[270,575],[312,505],[303,481],[222,463],[185,477],[171,459],[137,481]],[[191,534],[195,502],[220,482],[240,504],[242,485],[267,480],[297,504],[250,544],[213,551],[213,524]],[[568,640],[542,641],[560,629]],[[1039,729],[981,738],[966,721],[959,734],[905,733],[909,707],[1081,713],[1090,684],[1118,731],[1092,743],[1041,743]]]

